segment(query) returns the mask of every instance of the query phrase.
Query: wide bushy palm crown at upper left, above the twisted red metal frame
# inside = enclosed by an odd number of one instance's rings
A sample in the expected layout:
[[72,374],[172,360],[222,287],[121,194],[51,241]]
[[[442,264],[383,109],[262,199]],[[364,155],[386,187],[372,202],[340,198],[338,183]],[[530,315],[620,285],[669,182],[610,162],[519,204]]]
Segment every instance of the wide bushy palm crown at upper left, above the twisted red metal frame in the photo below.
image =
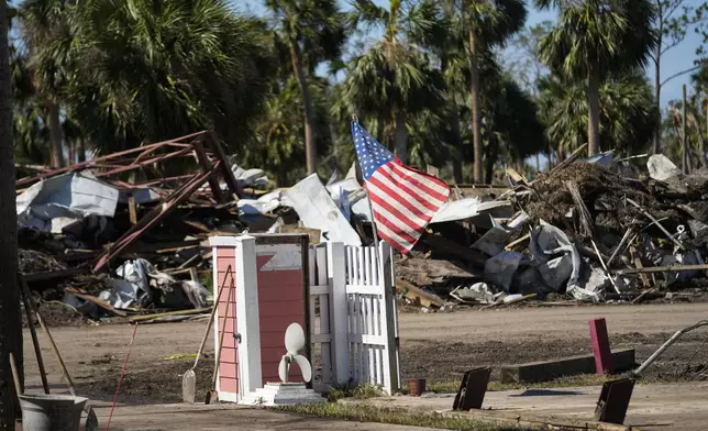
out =
[[244,145],[274,69],[263,22],[223,0],[85,0],[71,16],[67,104],[101,150],[207,128]]

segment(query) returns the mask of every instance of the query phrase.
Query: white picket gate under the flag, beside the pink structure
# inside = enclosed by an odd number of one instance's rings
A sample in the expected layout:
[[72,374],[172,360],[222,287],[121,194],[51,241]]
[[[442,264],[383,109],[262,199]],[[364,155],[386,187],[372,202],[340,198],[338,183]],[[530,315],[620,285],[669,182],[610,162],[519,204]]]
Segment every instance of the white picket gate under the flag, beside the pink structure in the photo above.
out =
[[394,394],[400,366],[390,246],[313,245],[309,274],[310,341],[322,366],[314,388],[354,382]]

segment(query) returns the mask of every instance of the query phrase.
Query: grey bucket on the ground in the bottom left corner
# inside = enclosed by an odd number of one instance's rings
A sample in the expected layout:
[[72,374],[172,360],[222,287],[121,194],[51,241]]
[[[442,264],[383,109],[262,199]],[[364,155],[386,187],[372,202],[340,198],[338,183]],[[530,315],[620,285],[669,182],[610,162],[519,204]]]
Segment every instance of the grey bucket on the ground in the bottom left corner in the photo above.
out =
[[21,395],[23,431],[79,431],[88,398],[70,395]]

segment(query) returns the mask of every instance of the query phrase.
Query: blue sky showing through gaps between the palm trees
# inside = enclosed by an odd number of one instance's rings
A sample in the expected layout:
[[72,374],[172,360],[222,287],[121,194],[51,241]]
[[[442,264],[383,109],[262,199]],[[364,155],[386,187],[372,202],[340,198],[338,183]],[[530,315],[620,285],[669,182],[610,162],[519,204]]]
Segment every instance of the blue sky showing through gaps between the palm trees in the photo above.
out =
[[[387,7],[389,0],[374,0],[375,3]],[[688,3],[695,3],[696,0],[688,0]],[[263,7],[263,0],[232,0],[232,3],[244,12],[250,12],[254,14],[264,14],[265,9]],[[342,1],[342,7],[349,9],[349,1]],[[540,11],[533,8],[529,8],[529,16],[527,19],[527,26],[533,26],[543,21],[555,21],[556,20],[555,11]],[[376,34],[372,34],[372,37],[376,37]],[[689,31],[686,35],[686,38],[682,44],[668,51],[662,56],[662,79],[683,71],[687,68],[690,68],[694,65],[694,59],[696,58],[696,48],[701,44],[703,37],[695,34],[693,31]],[[512,52],[509,49],[506,51],[505,55],[512,55]],[[648,67],[646,75],[650,79],[652,86],[654,85],[654,66],[653,63]],[[671,100],[677,100],[682,97],[682,85],[690,82],[690,74],[684,75],[682,77],[675,78],[666,82],[662,87],[661,101],[662,106],[666,106]]]

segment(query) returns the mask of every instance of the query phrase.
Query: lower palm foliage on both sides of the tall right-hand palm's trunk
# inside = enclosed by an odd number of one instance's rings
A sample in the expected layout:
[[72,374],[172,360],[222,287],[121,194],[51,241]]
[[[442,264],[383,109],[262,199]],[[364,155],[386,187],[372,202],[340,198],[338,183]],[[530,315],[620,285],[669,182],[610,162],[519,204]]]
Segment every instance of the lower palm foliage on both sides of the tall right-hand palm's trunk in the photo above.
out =
[[[541,79],[540,111],[546,137],[557,145],[557,157],[587,139],[587,82],[554,75]],[[659,125],[652,88],[641,73],[611,76],[598,88],[599,134],[608,148],[624,153],[648,146]]]

